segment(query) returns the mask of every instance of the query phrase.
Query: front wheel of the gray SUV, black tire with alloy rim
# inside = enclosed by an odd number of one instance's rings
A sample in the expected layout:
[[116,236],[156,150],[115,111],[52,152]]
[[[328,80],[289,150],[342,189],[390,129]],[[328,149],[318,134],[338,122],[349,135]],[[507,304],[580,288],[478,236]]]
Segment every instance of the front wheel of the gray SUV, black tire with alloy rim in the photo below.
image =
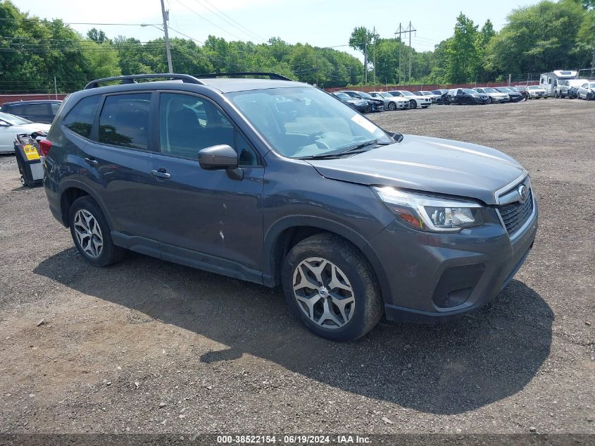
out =
[[[335,279],[339,287],[332,287]],[[299,287],[302,283],[306,285]],[[283,260],[282,285],[297,318],[313,333],[330,340],[356,340],[384,313],[372,267],[356,247],[338,235],[317,234],[296,244]],[[341,311],[334,302],[345,299],[351,302]]]

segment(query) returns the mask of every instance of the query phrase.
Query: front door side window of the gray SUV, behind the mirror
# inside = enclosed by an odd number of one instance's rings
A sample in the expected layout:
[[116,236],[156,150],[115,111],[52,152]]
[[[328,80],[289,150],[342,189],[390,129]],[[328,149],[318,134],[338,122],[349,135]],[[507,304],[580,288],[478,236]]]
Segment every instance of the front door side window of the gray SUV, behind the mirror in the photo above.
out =
[[159,100],[161,152],[198,159],[201,149],[228,144],[238,150],[233,125],[210,101],[162,93]]

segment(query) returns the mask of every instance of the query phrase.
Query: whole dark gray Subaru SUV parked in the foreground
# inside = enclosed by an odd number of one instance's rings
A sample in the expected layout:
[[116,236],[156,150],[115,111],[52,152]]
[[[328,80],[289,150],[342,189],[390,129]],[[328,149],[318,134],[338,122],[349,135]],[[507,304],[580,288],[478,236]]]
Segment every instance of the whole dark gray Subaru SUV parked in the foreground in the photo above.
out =
[[41,143],[44,185],[85,260],[131,249],[281,285],[332,340],[383,315],[444,320],[513,278],[537,231],[514,159],[387,132],[320,89],[256,74],[122,76],[65,99]]

